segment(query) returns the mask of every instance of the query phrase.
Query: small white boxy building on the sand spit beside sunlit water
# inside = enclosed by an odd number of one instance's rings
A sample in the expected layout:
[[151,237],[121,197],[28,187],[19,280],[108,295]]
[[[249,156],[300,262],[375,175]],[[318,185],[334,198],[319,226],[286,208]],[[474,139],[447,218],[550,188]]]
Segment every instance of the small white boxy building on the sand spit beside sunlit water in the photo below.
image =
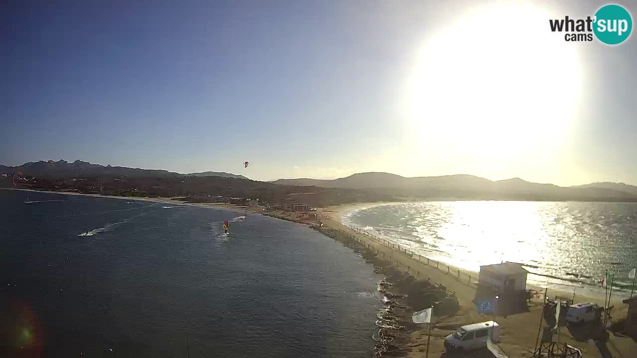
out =
[[496,292],[526,290],[526,275],[529,273],[522,265],[514,262],[480,266],[478,285],[489,287]]

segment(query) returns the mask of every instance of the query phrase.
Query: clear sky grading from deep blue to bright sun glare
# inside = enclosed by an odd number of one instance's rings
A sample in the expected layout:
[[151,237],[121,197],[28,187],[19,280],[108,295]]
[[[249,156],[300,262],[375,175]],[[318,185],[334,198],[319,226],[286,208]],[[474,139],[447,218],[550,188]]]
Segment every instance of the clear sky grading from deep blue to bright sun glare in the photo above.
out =
[[3,2],[0,164],[637,185],[636,35],[548,23],[603,4]]

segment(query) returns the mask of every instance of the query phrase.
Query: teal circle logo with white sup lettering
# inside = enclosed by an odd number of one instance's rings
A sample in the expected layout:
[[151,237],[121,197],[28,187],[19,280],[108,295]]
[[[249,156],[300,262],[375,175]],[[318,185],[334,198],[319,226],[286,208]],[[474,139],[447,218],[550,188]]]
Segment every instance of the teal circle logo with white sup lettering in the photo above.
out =
[[595,13],[595,36],[607,45],[626,41],[633,30],[633,18],[622,6],[605,5]]

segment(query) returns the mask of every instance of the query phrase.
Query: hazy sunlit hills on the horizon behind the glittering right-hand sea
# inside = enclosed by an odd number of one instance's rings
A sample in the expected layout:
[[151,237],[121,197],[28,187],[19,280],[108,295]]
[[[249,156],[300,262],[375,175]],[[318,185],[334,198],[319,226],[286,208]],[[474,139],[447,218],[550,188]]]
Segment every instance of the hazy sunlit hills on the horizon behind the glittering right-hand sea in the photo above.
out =
[[473,175],[406,178],[390,173],[358,173],[334,180],[280,179],[273,183],[372,190],[402,197],[480,200],[637,201],[637,187],[623,183],[592,183],[577,187],[531,183],[520,178],[491,180]]

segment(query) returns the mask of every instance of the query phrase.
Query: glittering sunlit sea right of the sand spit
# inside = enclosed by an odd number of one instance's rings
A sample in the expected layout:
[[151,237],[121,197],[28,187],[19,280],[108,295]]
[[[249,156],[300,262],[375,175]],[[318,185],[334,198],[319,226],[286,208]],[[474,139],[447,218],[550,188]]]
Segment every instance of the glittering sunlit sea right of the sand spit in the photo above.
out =
[[[637,203],[438,201],[346,211],[345,224],[457,268],[520,262],[527,283],[629,297],[637,266]],[[608,287],[600,281],[608,270]]]

